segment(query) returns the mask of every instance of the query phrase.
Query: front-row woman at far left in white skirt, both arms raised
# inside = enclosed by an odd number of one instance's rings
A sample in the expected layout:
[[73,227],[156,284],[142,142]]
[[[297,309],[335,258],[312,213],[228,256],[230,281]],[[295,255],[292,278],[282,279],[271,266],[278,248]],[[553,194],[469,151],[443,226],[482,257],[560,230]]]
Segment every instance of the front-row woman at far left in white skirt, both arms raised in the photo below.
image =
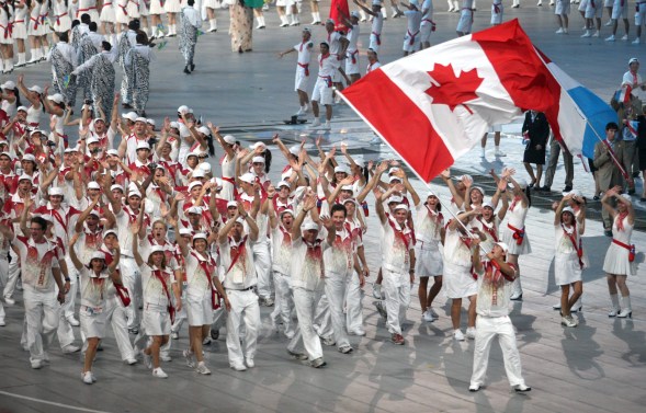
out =
[[120,250],[115,251],[114,260],[110,265],[105,264],[105,254],[94,252],[87,265],[81,264],[76,251],[75,243],[79,239],[76,233],[69,242],[69,257],[81,278],[81,332],[88,341],[88,349],[83,363],[81,379],[86,385],[92,385],[97,379],[92,375],[92,362],[97,356],[99,342],[105,335],[106,324],[106,299],[109,284],[122,284],[121,276],[116,272],[118,265]]

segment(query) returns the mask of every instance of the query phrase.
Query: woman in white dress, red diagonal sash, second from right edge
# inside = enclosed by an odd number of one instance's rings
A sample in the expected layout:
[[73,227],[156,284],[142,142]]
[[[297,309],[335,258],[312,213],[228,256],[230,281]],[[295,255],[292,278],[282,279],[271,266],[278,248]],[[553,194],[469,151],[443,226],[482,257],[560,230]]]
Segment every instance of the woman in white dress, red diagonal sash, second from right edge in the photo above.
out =
[[[568,194],[560,199],[554,216],[554,277],[556,285],[560,286],[560,323],[565,326],[578,325],[578,321],[571,317],[570,309],[583,294],[582,271],[586,267],[581,243],[581,236],[586,231],[586,213],[582,209],[579,216],[575,217],[573,208],[565,206],[573,196]],[[571,296],[570,288],[574,290]]]

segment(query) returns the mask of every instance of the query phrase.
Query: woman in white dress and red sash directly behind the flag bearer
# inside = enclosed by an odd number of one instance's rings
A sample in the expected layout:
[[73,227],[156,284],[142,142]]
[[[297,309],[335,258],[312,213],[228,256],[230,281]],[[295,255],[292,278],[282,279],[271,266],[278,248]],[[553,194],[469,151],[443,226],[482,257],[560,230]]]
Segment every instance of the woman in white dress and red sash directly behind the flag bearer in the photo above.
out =
[[523,296],[523,290],[520,282],[520,266],[518,264],[519,255],[529,254],[532,252],[530,239],[525,231],[525,219],[532,200],[529,196],[528,183],[523,179],[514,180],[509,176],[509,186],[511,186],[511,194],[506,194],[511,203],[507,210],[507,225],[502,226],[502,233],[500,241],[509,245],[507,253],[507,261],[513,264],[518,272],[518,277],[513,280],[511,287],[511,300],[520,300]]

